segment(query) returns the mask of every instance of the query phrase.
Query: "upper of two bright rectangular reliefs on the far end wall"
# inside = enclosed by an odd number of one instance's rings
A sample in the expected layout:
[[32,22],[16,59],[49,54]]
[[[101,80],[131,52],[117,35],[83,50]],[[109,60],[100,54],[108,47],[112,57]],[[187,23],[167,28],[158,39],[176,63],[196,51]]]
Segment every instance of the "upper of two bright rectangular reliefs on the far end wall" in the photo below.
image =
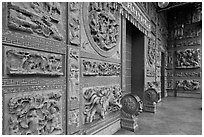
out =
[[176,51],[176,68],[200,68],[200,49],[185,49]]

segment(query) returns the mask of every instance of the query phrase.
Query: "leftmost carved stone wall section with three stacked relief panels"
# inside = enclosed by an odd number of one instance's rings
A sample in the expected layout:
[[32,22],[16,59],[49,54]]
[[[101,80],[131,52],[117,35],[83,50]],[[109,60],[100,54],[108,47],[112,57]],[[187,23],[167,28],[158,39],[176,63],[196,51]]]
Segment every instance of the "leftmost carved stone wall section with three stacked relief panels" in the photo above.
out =
[[66,3],[3,5],[2,134],[66,134]]

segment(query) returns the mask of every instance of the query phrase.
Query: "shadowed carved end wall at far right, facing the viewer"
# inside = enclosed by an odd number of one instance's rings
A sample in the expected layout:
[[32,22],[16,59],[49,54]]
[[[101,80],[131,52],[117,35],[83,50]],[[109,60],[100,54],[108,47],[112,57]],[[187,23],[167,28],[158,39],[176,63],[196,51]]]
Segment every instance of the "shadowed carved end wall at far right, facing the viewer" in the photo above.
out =
[[[200,98],[202,91],[199,84],[201,80],[201,46],[202,46],[202,4],[192,3],[169,14],[169,43],[168,51],[174,54],[171,72],[175,96],[180,92],[188,92]],[[180,13],[180,14],[178,14]],[[179,19],[180,21],[176,20]],[[171,79],[171,78],[170,78]],[[195,91],[196,89],[196,91]],[[197,94],[198,93],[198,94]],[[196,95],[195,95],[196,94]]]

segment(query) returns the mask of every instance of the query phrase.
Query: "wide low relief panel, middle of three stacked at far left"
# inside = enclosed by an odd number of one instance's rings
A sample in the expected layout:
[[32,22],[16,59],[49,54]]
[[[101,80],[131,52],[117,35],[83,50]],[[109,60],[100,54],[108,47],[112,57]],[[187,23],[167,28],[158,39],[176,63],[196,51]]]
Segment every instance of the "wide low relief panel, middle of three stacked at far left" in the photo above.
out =
[[62,55],[5,47],[7,74],[64,75]]

